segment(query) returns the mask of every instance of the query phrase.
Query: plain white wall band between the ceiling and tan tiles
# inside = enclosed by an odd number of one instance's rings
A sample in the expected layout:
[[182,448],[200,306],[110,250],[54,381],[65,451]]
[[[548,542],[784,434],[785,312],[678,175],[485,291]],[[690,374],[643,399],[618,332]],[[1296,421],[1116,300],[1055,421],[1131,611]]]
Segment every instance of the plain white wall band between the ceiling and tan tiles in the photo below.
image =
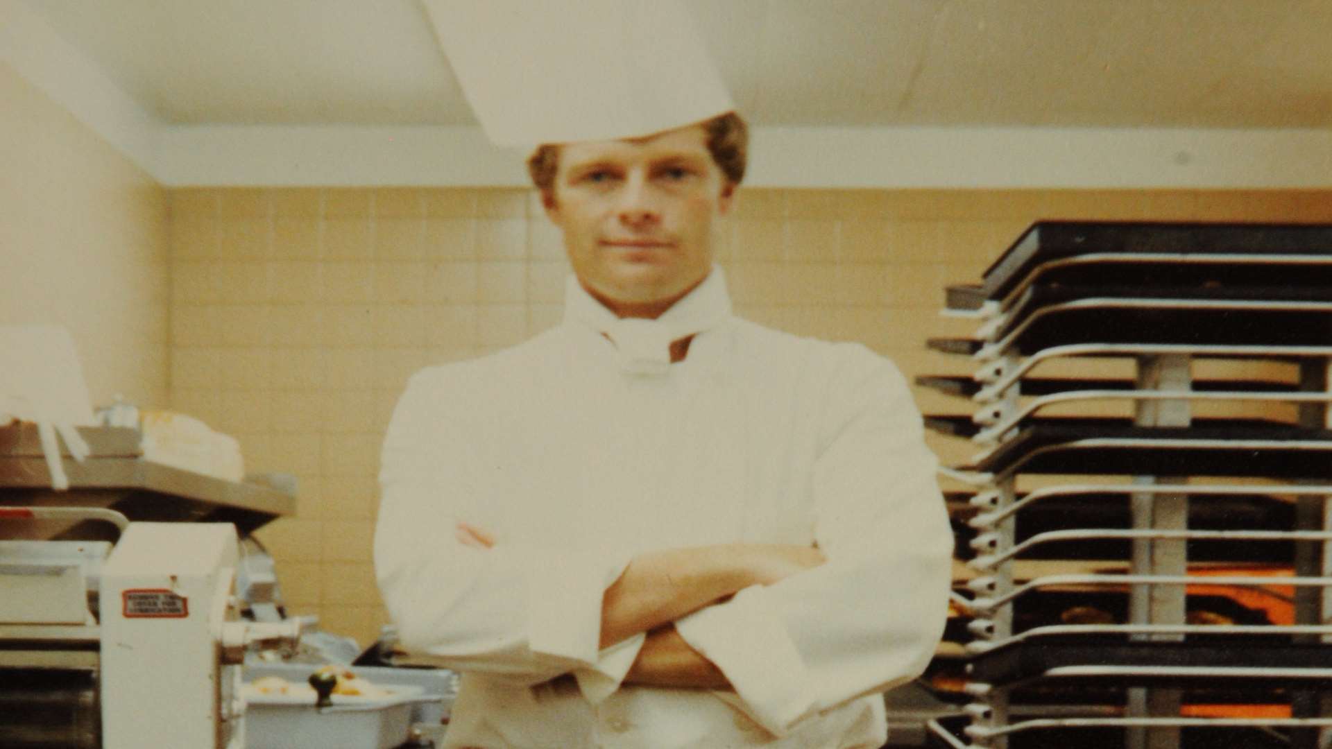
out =
[[[466,125],[166,123],[20,0],[0,61],[166,187],[526,184],[522,153]],[[807,188],[1323,188],[1328,129],[758,127],[749,184]]]

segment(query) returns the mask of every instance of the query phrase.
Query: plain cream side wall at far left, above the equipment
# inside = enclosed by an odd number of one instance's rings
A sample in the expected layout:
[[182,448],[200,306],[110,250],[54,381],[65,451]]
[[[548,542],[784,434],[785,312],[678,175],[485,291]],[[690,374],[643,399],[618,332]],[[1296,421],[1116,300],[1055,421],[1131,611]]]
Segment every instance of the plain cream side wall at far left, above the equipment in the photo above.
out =
[[0,63],[0,325],[69,329],[95,404],[166,405],[166,191]]

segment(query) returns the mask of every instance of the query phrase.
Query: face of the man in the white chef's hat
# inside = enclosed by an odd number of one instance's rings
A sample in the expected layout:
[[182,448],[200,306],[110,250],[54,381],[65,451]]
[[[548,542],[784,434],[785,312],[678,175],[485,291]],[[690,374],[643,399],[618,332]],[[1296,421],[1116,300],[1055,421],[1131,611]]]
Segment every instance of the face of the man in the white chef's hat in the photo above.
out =
[[621,317],[657,317],[713,265],[713,224],[733,185],[691,125],[561,147],[546,213],[578,281]]

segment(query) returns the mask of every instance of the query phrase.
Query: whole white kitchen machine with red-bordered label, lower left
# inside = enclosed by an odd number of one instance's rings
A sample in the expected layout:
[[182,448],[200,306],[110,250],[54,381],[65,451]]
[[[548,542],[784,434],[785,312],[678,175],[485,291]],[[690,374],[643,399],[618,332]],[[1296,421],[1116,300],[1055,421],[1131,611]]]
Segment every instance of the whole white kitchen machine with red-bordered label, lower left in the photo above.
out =
[[230,524],[92,512],[121,528],[115,546],[0,541],[0,745],[241,749],[244,653],[294,648],[298,622],[240,620]]

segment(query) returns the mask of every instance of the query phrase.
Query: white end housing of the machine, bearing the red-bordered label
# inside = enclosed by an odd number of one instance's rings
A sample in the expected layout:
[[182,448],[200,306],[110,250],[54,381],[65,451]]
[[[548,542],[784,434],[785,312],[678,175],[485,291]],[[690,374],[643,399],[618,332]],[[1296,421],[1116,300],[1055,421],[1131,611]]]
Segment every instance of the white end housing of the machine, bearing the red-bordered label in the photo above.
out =
[[104,749],[244,746],[248,645],[300,636],[294,620],[238,620],[228,524],[136,522],[101,572]]

